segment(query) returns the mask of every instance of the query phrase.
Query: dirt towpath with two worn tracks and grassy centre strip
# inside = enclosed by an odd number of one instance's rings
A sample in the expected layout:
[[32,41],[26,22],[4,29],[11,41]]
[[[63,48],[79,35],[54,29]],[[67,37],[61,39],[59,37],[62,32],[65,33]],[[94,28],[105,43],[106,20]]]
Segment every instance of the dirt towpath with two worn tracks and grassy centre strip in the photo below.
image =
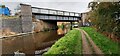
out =
[[78,29],[82,35],[82,54],[83,56],[104,56],[100,48],[93,42],[91,37],[82,29]]

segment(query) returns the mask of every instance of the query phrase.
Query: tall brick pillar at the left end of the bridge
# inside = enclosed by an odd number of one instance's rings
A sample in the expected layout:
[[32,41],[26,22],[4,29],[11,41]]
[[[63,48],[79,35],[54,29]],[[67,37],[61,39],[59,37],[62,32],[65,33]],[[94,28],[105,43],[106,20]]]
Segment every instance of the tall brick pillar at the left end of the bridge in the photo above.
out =
[[32,9],[30,5],[21,4],[22,33],[32,32]]

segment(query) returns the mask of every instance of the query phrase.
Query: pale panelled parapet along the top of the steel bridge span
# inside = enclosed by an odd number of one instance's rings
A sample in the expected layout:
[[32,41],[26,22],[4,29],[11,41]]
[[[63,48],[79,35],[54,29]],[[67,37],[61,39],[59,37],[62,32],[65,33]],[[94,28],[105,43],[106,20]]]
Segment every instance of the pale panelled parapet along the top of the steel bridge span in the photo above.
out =
[[80,13],[32,7],[33,13],[81,17]]

